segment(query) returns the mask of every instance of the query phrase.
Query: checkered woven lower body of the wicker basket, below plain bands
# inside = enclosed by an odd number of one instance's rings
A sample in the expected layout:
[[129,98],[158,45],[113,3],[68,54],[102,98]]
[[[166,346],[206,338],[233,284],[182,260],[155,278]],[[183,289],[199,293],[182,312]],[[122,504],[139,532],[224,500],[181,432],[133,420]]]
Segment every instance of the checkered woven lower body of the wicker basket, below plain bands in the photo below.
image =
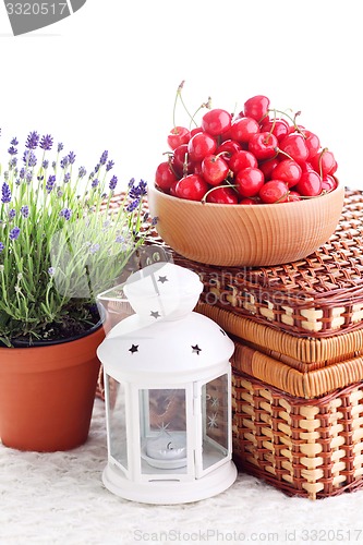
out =
[[306,401],[234,373],[238,468],[310,499],[362,487],[362,383]]

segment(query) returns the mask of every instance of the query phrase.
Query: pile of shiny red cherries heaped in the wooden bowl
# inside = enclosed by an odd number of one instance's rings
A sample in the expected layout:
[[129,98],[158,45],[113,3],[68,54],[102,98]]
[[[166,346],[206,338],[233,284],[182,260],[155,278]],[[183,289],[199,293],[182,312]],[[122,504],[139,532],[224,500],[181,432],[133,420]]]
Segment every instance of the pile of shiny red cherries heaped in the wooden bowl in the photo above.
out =
[[179,198],[219,204],[271,204],[334,191],[337,161],[313,132],[270,108],[266,96],[232,116],[208,109],[199,126],[174,126],[156,186]]

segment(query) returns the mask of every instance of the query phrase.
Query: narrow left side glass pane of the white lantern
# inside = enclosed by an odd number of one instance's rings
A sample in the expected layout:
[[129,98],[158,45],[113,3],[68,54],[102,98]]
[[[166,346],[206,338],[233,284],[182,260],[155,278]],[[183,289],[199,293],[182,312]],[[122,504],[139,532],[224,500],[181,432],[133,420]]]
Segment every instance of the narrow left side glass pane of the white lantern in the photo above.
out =
[[128,469],[125,388],[122,383],[108,375],[106,375],[106,388],[109,408],[109,451],[118,463]]

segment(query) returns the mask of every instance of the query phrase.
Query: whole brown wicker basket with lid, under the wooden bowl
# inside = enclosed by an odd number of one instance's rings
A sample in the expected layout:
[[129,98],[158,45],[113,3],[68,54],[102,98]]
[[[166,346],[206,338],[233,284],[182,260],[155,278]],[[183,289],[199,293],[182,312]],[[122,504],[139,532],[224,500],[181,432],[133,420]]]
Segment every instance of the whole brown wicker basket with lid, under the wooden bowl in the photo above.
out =
[[199,274],[196,310],[235,341],[239,469],[312,499],[362,487],[362,192],[346,191],[335,234],[300,262],[228,269],[173,261]]

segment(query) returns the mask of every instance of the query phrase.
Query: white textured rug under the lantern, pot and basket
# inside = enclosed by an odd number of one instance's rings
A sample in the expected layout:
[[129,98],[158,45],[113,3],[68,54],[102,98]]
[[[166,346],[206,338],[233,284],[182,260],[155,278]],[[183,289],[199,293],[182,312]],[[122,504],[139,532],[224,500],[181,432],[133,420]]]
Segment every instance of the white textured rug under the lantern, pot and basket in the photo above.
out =
[[210,499],[149,506],[104,487],[106,459],[99,399],[81,448],[40,455],[0,445],[0,544],[363,543],[363,491],[312,501],[240,474]]

